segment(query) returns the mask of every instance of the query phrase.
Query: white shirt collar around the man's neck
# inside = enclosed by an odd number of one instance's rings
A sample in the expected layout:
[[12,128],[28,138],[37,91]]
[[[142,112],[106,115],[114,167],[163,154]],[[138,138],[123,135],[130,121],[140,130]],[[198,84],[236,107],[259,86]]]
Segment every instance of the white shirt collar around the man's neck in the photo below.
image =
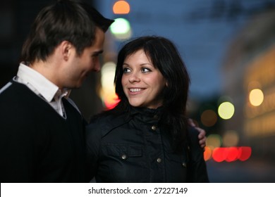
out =
[[17,77],[18,82],[26,84],[27,87],[35,91],[36,94],[43,96],[48,102],[51,102],[56,93],[61,94],[59,87],[24,63],[20,63]]

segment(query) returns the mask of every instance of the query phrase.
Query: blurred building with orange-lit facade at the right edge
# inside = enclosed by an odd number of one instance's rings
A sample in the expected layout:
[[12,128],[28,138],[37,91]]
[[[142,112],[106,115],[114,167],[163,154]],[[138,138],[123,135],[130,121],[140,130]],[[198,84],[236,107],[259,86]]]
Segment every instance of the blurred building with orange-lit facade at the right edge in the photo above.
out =
[[252,156],[275,155],[275,9],[255,15],[229,46],[223,67],[223,94],[235,114],[224,120],[224,131],[238,132],[239,146]]

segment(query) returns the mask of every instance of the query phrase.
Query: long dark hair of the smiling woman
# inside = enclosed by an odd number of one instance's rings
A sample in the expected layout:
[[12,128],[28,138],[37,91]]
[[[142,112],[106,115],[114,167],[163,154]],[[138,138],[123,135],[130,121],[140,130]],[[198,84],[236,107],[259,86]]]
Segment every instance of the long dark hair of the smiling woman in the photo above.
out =
[[188,122],[185,111],[190,77],[176,46],[169,39],[154,36],[139,37],[128,42],[119,51],[114,83],[116,94],[121,101],[113,111],[123,113],[130,107],[121,84],[123,62],[140,49],[145,51],[154,67],[159,69],[166,79],[168,85],[164,89],[162,106],[164,113],[160,122],[170,132],[175,150],[182,150],[187,135]]

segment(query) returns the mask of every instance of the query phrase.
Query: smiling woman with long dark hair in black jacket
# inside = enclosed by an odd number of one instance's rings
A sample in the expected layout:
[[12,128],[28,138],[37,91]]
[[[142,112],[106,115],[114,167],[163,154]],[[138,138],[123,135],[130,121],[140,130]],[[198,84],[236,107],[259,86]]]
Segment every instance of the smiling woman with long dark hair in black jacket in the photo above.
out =
[[190,78],[176,47],[140,37],[118,53],[120,102],[87,126],[97,182],[209,182],[198,132],[185,117]]

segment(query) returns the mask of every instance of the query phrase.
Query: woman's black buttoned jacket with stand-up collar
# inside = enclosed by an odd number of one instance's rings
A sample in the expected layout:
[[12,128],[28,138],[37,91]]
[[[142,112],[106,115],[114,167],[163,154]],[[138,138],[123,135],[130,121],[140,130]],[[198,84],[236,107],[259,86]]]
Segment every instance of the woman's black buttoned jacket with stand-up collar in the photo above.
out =
[[[88,179],[97,182],[209,182],[197,130],[189,150],[173,153],[159,110],[100,115],[87,126]],[[189,175],[188,175],[189,174]]]

